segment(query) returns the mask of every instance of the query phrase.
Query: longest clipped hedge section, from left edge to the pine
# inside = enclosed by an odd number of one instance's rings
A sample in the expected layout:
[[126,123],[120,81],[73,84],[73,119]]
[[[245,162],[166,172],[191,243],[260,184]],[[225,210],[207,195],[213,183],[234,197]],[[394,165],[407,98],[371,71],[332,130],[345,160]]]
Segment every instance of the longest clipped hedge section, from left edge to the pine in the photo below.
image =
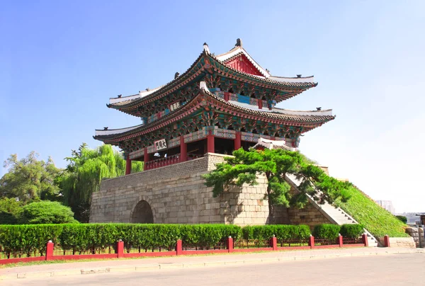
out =
[[[122,239],[125,248],[174,248],[186,244],[212,247],[241,236],[241,227],[226,224],[33,224],[0,225],[0,251],[6,256],[44,256],[52,240],[72,253],[102,252]],[[69,253],[69,252],[67,252]]]

